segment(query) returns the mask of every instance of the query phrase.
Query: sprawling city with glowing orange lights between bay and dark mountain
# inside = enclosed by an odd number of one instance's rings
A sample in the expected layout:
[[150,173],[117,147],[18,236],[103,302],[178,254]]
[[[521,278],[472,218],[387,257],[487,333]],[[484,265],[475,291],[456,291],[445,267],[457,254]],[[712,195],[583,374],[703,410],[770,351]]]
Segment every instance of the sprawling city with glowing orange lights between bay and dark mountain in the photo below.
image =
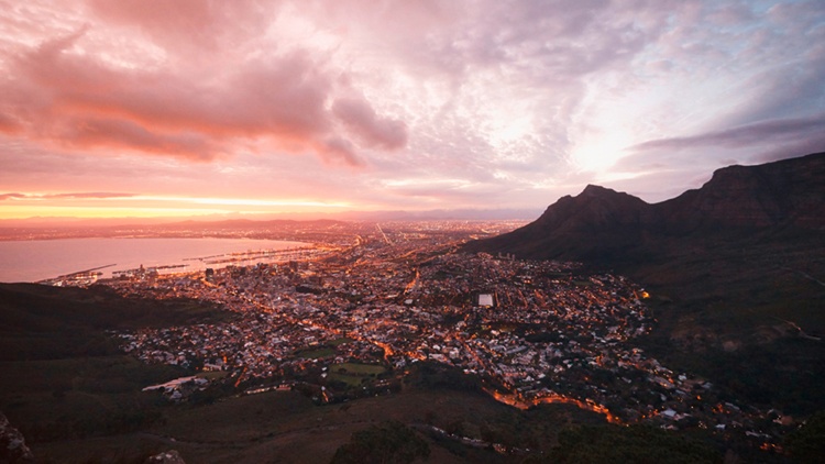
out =
[[673,372],[638,346],[657,323],[638,284],[580,263],[463,253],[485,225],[360,223],[349,243],[342,231],[278,262],[98,284],[232,313],[219,323],[112,333],[145,363],[200,373],[147,386],[174,402],[220,384],[246,394],[297,389],[319,405],[392,395],[409,366],[432,362],[519,409],[563,402],[614,423],[776,445],[789,424],[781,412]]

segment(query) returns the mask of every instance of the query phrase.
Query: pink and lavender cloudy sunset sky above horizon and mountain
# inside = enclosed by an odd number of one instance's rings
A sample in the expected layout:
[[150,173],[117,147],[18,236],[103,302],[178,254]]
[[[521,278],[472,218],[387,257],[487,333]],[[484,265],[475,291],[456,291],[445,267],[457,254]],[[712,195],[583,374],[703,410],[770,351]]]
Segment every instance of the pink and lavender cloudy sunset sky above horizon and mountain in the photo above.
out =
[[657,202],[824,82],[822,0],[0,0],[0,219]]

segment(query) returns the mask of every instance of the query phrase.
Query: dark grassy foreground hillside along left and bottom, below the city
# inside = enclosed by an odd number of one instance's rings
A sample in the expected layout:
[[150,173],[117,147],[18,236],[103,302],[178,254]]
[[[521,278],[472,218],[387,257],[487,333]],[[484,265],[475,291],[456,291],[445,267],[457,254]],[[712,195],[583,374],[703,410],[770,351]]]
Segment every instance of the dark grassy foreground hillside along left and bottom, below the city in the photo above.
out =
[[[408,368],[398,391],[342,404],[317,405],[297,390],[242,395],[246,387],[229,382],[175,405],[143,387],[205,374],[144,364],[107,335],[226,318],[231,314],[194,300],[123,298],[106,287],[0,284],[0,418],[9,424],[0,443],[18,443],[12,427],[19,429],[35,463],[144,463],[172,449],[187,463],[324,463],[333,456],[376,462],[375,449],[404,457],[410,437],[424,446],[416,455],[438,463],[543,462],[542,453],[605,462],[615,453],[609,440],[588,446],[587,459],[579,455],[578,443],[594,434],[622,439],[623,452],[636,461],[721,461],[730,446],[711,435],[607,424],[573,405],[521,411],[495,401],[460,369],[424,362]],[[447,431],[488,442],[466,444]],[[394,441],[396,434],[404,443]],[[496,452],[490,442],[522,451]],[[21,462],[9,456],[0,450],[0,462]]]

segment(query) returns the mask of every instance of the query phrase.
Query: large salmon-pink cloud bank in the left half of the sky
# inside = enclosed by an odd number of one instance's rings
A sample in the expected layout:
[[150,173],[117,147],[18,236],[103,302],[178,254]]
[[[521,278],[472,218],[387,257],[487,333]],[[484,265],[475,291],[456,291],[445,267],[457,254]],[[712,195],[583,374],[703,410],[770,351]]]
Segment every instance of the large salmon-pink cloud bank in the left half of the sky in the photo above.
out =
[[177,68],[117,68],[73,52],[90,30],[16,57],[19,78],[7,80],[4,90],[18,97],[6,106],[11,115],[0,114],[0,130],[74,150],[191,161],[224,157],[239,141],[267,141],[274,150],[316,152],[351,166],[364,164],[361,148],[397,150],[407,142],[404,123],[378,117],[366,100],[339,99],[330,109],[336,82],[301,51],[196,77]]

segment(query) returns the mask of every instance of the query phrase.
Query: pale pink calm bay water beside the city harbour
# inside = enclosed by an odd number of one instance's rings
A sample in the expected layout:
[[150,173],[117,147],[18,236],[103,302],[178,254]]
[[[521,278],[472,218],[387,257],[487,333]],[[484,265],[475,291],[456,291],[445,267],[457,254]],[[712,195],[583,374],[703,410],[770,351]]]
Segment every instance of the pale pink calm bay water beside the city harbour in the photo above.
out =
[[[37,281],[99,269],[102,278],[143,265],[201,270],[233,264],[231,253],[308,246],[301,242],[254,239],[61,239],[0,242],[0,281]],[[223,255],[223,256],[222,256]],[[114,266],[110,266],[110,265]],[[243,264],[243,263],[238,263]],[[254,264],[254,263],[251,263]],[[162,270],[163,273],[163,270]]]

